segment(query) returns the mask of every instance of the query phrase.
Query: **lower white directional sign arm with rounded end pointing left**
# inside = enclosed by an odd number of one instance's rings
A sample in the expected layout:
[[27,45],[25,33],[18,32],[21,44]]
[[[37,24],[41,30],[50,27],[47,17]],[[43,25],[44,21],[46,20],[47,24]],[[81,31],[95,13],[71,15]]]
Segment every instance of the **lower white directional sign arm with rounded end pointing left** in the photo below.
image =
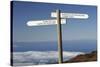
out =
[[[55,25],[56,19],[28,21],[27,26]],[[61,19],[61,24],[66,24],[66,19]]]

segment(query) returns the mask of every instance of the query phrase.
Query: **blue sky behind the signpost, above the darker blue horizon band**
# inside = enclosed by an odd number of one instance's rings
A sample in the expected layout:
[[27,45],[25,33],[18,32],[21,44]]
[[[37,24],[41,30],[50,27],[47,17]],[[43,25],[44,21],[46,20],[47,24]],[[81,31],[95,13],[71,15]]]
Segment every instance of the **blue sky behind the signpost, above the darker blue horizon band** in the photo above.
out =
[[51,17],[51,12],[55,12],[56,9],[65,13],[89,15],[89,18],[85,20],[66,19],[66,24],[62,25],[63,41],[97,39],[96,6],[21,1],[14,1],[12,5],[14,42],[57,41],[57,25],[35,27],[26,25],[30,20],[54,19]]

